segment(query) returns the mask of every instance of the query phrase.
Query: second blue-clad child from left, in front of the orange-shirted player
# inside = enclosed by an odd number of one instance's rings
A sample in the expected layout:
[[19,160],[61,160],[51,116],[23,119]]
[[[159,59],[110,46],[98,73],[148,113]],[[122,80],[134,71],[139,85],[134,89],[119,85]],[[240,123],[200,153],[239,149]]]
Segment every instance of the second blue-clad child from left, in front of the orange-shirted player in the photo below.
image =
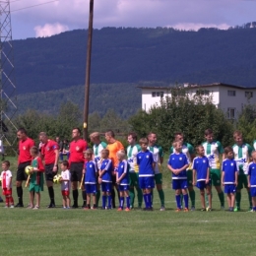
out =
[[[112,160],[108,159],[109,150],[101,151],[101,164],[98,174],[98,183],[101,184],[102,209],[111,209],[111,190],[112,190]],[[106,207],[107,198],[107,207]]]

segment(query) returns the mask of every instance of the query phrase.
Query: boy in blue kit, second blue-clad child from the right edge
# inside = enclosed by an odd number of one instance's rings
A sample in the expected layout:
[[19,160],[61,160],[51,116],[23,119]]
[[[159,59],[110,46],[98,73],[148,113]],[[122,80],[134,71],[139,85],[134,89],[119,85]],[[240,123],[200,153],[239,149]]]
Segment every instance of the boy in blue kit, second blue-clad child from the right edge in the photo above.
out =
[[233,212],[234,208],[234,194],[237,185],[238,166],[233,160],[233,150],[231,147],[224,148],[224,155],[226,159],[223,161],[223,175],[222,184],[224,186],[224,193],[226,194],[228,211]]

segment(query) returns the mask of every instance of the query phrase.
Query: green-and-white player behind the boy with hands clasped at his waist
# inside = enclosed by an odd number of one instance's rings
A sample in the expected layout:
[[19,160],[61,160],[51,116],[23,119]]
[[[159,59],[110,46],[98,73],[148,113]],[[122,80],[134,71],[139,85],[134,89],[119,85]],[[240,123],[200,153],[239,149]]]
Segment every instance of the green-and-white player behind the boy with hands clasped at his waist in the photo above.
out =
[[[191,211],[195,210],[195,202],[196,202],[196,193],[195,190],[193,188],[193,170],[192,170],[192,162],[193,159],[195,158],[195,152],[194,152],[194,148],[191,144],[184,142],[184,134],[182,132],[176,132],[174,134],[174,141],[176,142],[181,142],[182,143],[182,150],[181,152],[187,157],[188,160],[188,168],[186,171],[187,174],[187,184],[188,184],[188,193],[189,193],[189,197],[191,200]],[[171,147],[170,148],[170,154],[174,153],[174,148]],[[181,199],[182,199],[182,195],[181,195]],[[182,200],[181,200],[182,202]],[[182,207],[182,203],[181,203],[181,207]]]

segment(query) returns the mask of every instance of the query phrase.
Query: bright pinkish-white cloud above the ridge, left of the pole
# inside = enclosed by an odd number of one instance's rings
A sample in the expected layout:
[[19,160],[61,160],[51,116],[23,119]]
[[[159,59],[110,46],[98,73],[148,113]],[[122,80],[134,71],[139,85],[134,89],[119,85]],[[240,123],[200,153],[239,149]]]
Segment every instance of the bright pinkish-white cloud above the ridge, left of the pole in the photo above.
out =
[[36,26],[34,27],[35,37],[45,37],[51,36],[56,33],[66,32],[69,30],[69,27],[66,25],[61,25],[59,23],[55,24],[45,24],[43,27]]

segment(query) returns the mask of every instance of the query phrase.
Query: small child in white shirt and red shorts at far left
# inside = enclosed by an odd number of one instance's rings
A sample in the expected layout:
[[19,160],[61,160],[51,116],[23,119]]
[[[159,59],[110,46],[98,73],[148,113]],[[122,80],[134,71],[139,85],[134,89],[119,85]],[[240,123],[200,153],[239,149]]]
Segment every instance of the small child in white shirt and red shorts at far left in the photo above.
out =
[[10,161],[4,160],[2,162],[2,173],[1,173],[1,180],[2,180],[2,190],[3,195],[5,196],[5,208],[14,208],[14,199],[12,196],[12,172],[9,170]]

